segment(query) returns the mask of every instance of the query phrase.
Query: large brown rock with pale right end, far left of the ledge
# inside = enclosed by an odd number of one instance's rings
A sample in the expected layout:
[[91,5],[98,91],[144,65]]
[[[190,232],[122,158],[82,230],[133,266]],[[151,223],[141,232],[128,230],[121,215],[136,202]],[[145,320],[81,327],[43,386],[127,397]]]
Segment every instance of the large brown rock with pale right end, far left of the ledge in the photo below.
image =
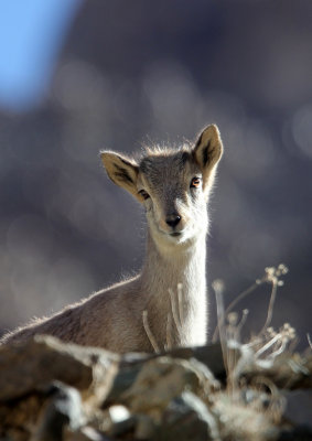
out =
[[119,359],[107,351],[64,344],[52,336],[0,346],[0,401],[25,396],[53,380],[77,388],[84,399],[103,401]]

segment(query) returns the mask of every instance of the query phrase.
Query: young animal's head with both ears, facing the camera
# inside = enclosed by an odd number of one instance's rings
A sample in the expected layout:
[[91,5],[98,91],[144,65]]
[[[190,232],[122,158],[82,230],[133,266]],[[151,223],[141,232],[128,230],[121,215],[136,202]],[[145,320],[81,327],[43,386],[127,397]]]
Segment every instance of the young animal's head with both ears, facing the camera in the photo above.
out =
[[206,233],[206,204],[223,153],[216,126],[208,126],[194,146],[148,151],[140,161],[104,151],[111,181],[146,207],[152,237],[162,244],[185,244]]

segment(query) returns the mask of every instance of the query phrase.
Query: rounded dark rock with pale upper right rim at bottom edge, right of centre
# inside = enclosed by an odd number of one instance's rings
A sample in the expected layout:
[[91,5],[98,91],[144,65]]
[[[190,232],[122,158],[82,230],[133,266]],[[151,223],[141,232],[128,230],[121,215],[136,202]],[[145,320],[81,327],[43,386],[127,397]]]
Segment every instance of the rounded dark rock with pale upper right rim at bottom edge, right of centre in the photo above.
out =
[[190,391],[174,398],[165,409],[155,440],[219,440],[218,427],[205,404]]

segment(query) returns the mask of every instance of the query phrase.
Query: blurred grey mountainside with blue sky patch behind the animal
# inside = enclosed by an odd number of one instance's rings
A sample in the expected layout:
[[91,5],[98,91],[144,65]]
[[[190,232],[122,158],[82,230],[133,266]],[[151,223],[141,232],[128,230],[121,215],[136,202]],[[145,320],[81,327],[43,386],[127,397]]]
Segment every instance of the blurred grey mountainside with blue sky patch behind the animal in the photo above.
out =
[[[0,330],[138,271],[143,213],[98,152],[216,122],[209,283],[286,263],[273,325],[311,332],[311,0],[2,0]],[[238,305],[265,323],[270,287]],[[213,293],[211,330],[215,326]]]

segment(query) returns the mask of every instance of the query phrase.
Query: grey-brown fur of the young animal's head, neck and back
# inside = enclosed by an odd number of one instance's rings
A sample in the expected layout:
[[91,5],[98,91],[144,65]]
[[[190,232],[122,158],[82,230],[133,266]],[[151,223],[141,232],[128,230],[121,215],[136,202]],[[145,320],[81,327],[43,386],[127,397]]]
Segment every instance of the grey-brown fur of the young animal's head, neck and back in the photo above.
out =
[[[103,152],[109,178],[146,207],[148,237],[141,272],[4,335],[1,343],[51,334],[120,353],[151,352],[150,333],[160,349],[204,344],[207,202],[222,152],[216,126],[208,126],[195,147],[151,149],[139,162]],[[201,179],[200,187],[191,185],[194,176]],[[142,190],[150,197],[144,198]],[[173,227],[166,223],[172,213],[181,217]]]

